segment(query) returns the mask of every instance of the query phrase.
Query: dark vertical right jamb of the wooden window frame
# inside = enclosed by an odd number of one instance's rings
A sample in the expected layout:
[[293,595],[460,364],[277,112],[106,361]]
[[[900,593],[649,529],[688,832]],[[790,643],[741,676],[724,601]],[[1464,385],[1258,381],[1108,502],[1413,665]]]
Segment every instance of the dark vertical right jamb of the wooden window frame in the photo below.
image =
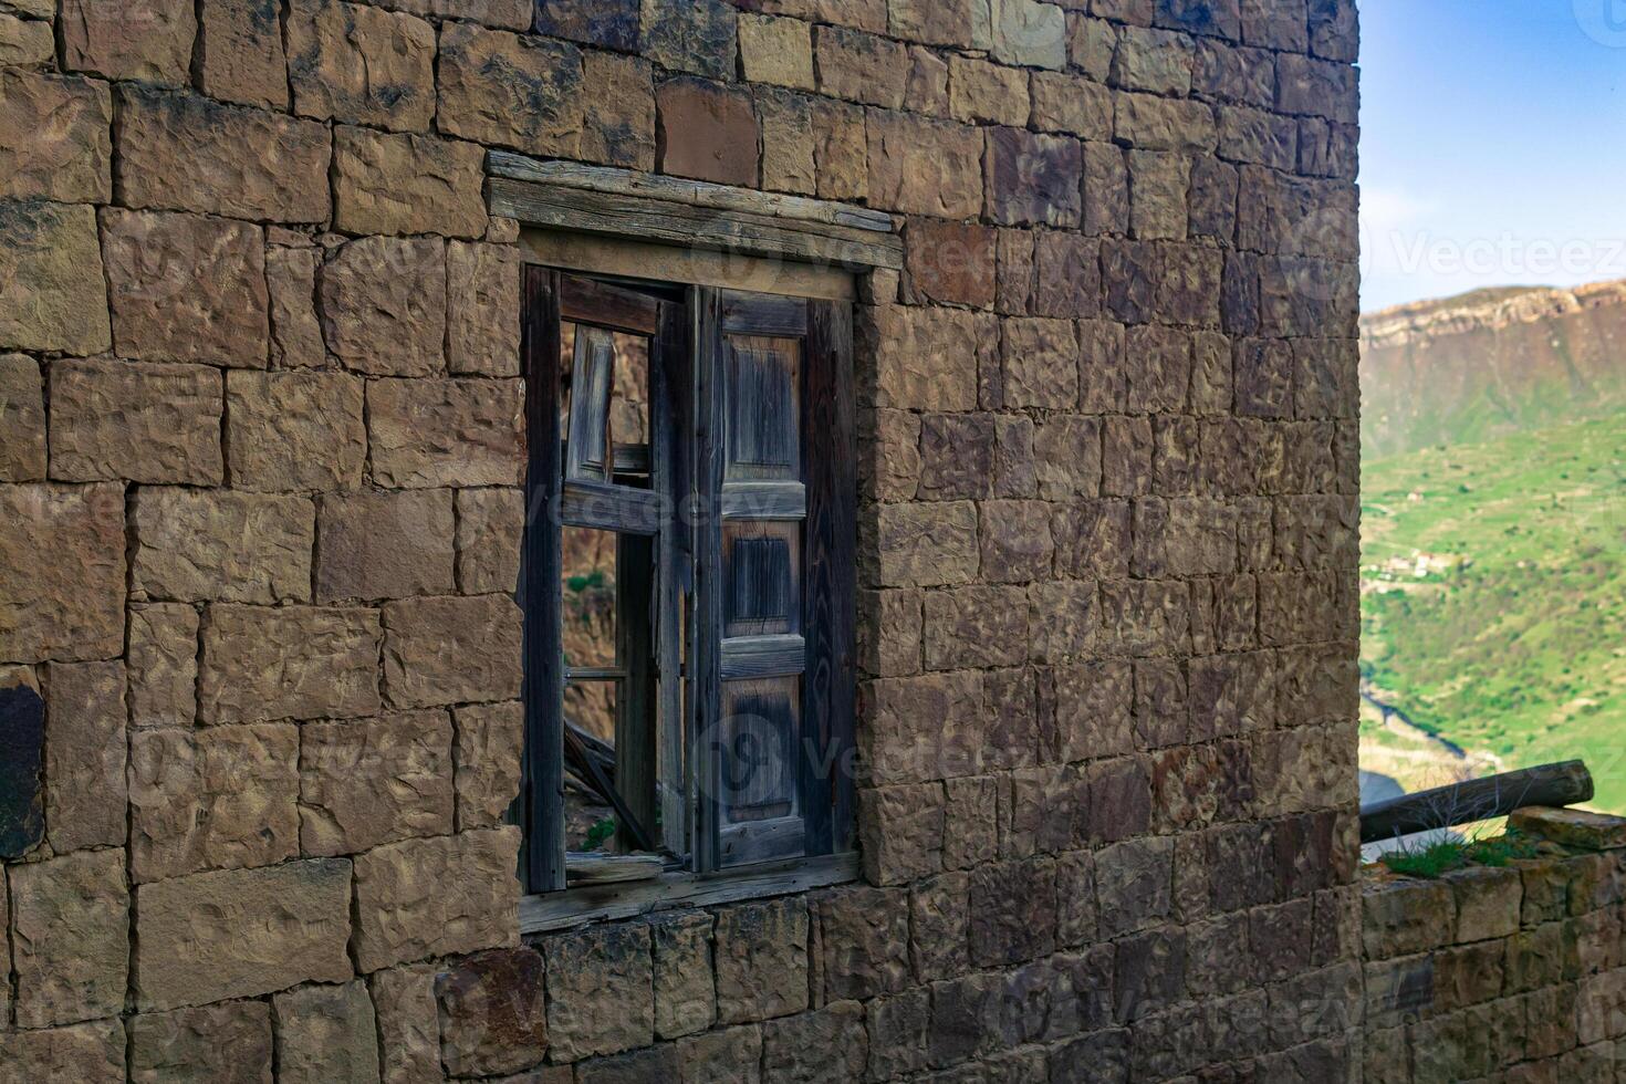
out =
[[846,850],[854,816],[854,631],[857,437],[852,397],[852,306],[811,302],[803,395],[808,465],[803,621],[803,811],[808,853]]

